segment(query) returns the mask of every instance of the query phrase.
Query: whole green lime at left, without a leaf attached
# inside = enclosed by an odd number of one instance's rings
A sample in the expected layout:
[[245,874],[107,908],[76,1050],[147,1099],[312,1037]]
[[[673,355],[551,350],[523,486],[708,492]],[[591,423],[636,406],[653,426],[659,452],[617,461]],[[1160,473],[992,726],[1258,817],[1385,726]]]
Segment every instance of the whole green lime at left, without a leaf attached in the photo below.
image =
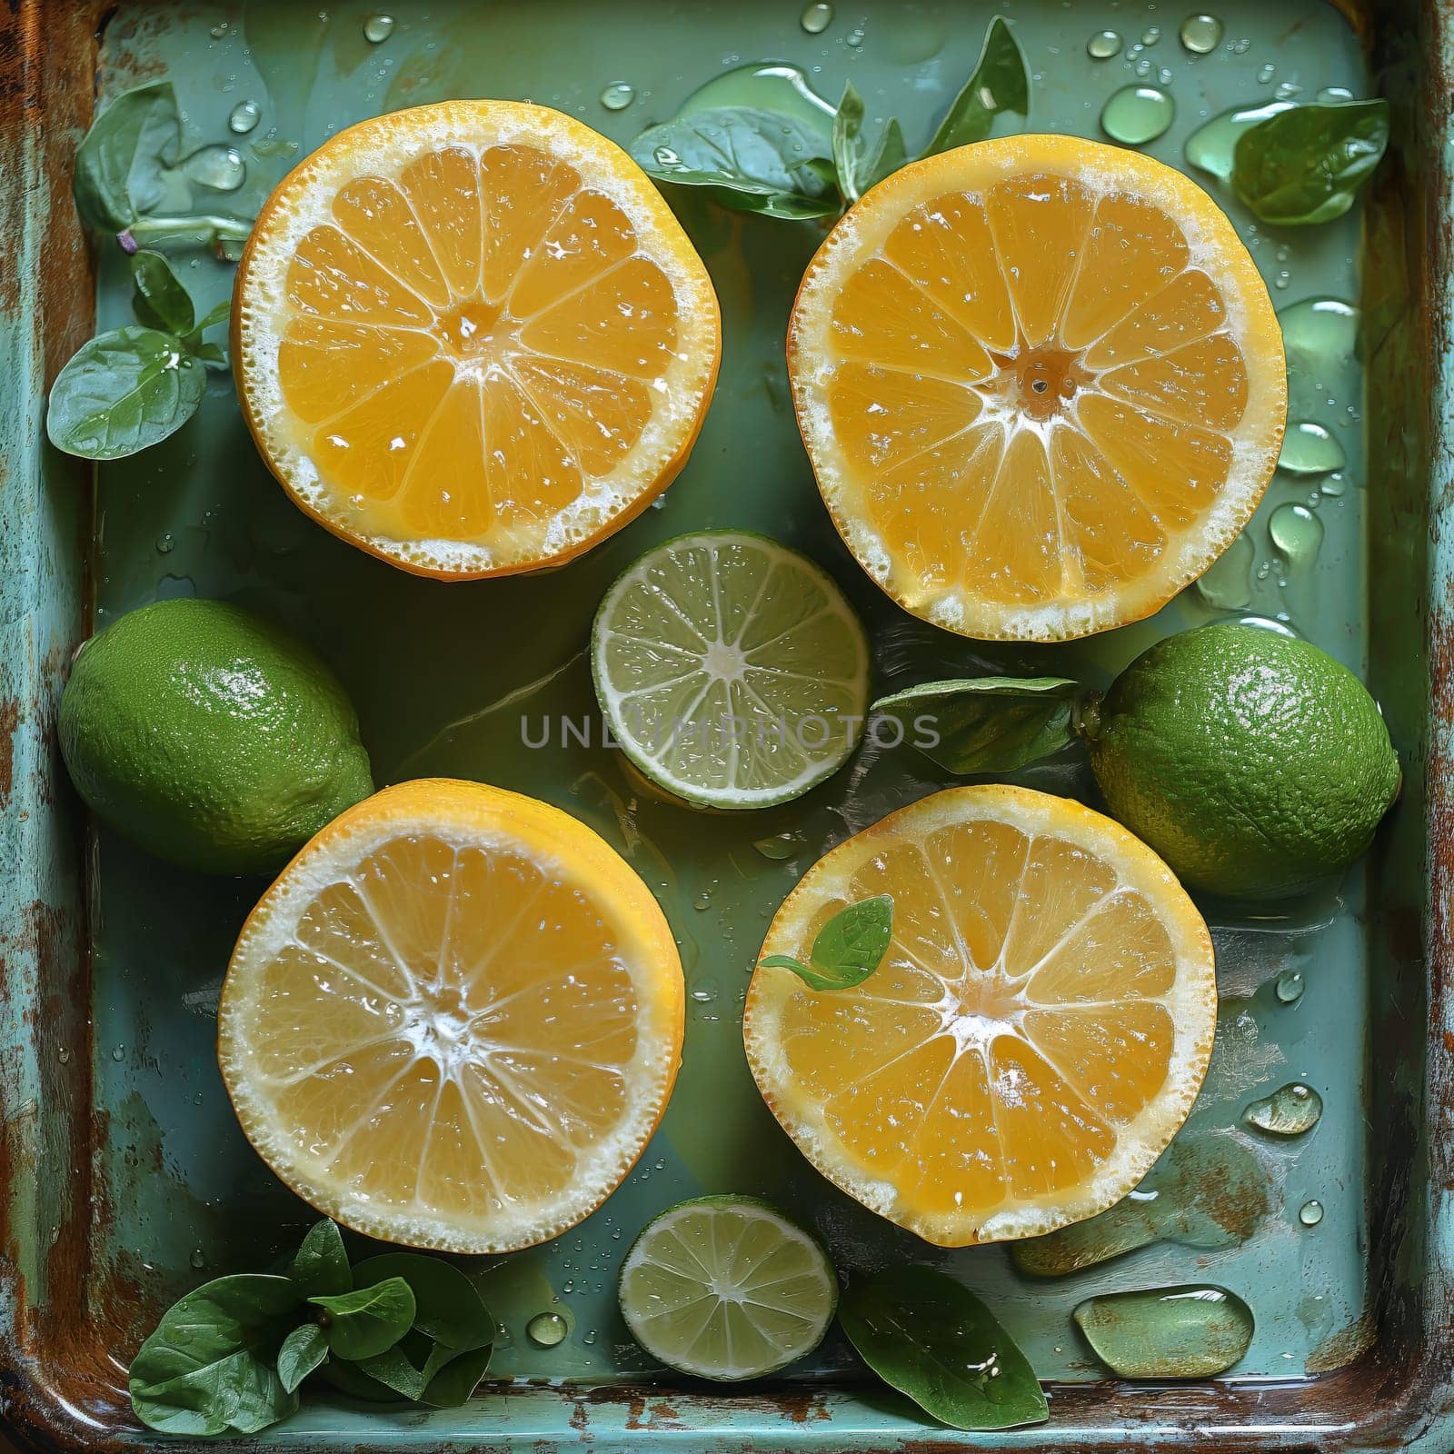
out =
[[374,791],[339,679],[221,601],[158,601],[86,643],[60,739],[97,817],[206,872],[272,872]]

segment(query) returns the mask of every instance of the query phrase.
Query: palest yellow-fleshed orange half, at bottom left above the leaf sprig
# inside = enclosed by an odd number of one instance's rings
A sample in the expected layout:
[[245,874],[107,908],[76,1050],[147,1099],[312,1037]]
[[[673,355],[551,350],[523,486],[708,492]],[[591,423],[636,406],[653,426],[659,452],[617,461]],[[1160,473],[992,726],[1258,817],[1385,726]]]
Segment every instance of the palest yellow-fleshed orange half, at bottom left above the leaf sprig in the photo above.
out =
[[509,1252],[599,1205],[662,1118],[682,968],[641,880],[534,798],[388,788],[253,910],[218,1051],[249,1140],[369,1236]]

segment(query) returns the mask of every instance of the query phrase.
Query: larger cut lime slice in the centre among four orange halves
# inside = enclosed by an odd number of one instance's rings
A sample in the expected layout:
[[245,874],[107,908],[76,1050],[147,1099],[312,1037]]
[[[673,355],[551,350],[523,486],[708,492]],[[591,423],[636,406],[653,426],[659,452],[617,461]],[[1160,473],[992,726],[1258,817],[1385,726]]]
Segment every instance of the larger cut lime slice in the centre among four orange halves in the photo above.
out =
[[864,734],[868,641],[833,580],[762,535],[647,551],[606,592],[596,695],[627,756],[696,807],[787,803]]

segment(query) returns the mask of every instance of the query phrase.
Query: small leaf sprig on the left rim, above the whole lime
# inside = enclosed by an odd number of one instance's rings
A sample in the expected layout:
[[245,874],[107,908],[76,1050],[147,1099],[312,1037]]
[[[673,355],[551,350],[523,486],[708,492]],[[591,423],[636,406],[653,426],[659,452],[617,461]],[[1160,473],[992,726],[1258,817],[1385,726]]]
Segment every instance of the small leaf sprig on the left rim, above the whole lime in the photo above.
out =
[[135,324],[81,345],[51,385],[45,430],[83,459],[121,459],[176,433],[202,403],[206,369],[227,368],[227,353],[204,339],[227,320],[227,301],[198,318],[170,263],[150,249],[132,254],[131,275]]

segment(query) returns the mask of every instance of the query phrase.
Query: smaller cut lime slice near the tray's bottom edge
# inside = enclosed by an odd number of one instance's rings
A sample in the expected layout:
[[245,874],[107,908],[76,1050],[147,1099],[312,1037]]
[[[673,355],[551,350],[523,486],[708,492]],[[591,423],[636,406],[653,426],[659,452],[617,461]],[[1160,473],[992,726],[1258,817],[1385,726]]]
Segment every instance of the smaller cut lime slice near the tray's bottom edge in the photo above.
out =
[[621,1268],[621,1312],[653,1357],[696,1378],[776,1373],[813,1352],[838,1307],[822,1243],[755,1197],[663,1211]]

